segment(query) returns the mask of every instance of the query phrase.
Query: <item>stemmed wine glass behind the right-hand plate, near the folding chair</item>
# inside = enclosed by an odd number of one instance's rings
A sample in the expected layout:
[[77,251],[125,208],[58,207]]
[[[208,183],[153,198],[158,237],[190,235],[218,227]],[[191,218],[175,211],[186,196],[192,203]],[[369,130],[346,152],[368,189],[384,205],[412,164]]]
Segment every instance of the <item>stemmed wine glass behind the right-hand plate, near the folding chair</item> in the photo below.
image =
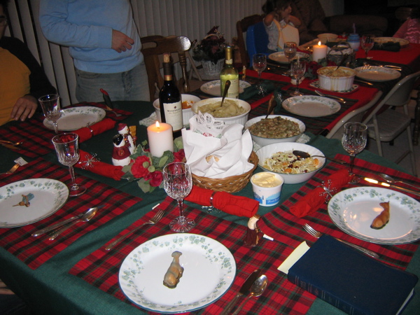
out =
[[[367,141],[367,126],[362,123],[346,123],[342,137],[344,150],[350,155],[350,175],[353,176],[354,157],[363,151]],[[353,176],[350,183],[358,183],[359,179]]]

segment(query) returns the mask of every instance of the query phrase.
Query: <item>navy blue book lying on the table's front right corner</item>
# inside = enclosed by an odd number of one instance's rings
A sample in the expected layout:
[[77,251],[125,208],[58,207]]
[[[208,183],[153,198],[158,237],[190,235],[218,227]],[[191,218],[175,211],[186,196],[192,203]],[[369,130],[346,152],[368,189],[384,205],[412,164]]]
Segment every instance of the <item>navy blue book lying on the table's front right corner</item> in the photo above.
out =
[[419,279],[323,235],[290,267],[288,280],[348,314],[395,315]]

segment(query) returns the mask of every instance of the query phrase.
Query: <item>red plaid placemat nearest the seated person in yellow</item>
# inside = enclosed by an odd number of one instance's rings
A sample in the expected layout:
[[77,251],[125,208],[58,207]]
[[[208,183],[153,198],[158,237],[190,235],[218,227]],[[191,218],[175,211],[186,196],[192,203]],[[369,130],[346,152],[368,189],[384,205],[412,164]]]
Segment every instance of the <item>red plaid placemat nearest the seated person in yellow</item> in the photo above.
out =
[[[104,104],[88,102],[75,104],[71,107],[79,106],[95,106],[105,109]],[[106,117],[119,121],[132,115],[130,111],[123,111],[121,109],[114,109],[113,111],[121,114],[121,116],[117,117],[115,113],[106,111]],[[36,114],[30,120],[5,127],[1,130],[1,139],[13,142],[23,141],[23,144],[19,146],[20,150],[16,152],[22,153],[29,158],[37,158],[38,156],[48,154],[54,150],[51,139],[55,136],[55,132],[45,127],[43,120],[43,115]]]

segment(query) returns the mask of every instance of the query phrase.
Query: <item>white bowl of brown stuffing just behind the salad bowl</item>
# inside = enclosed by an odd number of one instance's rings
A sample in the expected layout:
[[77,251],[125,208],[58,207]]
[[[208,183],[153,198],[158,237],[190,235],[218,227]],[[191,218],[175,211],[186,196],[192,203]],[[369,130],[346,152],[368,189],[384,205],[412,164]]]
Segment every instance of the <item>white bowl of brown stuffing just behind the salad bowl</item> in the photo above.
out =
[[304,123],[290,116],[269,115],[252,118],[244,125],[258,146],[279,142],[295,142],[306,129]]

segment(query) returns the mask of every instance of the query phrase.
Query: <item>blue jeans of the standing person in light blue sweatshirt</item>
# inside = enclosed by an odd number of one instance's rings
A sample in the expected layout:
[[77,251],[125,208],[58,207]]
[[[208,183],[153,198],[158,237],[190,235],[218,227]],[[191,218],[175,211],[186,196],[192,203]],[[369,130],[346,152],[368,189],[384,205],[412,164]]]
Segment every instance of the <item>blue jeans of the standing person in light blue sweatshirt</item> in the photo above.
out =
[[108,92],[111,101],[150,101],[144,62],[118,73],[92,73],[76,69],[78,102],[104,102],[100,89]]

